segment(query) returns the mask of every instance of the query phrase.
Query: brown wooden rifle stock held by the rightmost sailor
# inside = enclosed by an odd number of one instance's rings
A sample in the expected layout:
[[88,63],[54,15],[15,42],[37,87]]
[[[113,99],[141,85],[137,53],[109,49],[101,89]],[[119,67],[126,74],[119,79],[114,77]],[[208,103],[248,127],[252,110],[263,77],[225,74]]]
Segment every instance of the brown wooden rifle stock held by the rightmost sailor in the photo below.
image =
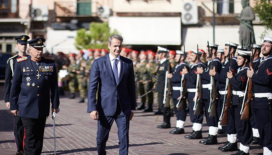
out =
[[[249,66],[253,68],[253,63],[249,63]],[[250,68],[251,70],[251,68]],[[249,119],[249,107],[250,107],[250,101],[252,98],[252,81],[251,78],[248,80],[248,93],[247,93],[247,101],[244,104],[244,110],[243,114],[241,115],[241,120],[248,120]]]

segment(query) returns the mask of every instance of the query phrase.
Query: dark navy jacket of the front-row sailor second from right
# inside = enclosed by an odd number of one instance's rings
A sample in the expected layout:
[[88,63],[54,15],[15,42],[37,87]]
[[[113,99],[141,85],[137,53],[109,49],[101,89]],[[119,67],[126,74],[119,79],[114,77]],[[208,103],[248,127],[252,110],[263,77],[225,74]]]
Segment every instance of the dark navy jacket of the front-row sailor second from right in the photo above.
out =
[[[247,86],[247,69],[249,66],[245,66],[244,68],[238,68],[237,72],[233,74],[233,77],[229,79],[229,84],[231,85],[231,91],[239,92],[241,91],[245,93],[245,89]],[[238,95],[238,93],[233,93],[232,95],[232,104],[233,105],[242,105],[244,97],[242,94]]]

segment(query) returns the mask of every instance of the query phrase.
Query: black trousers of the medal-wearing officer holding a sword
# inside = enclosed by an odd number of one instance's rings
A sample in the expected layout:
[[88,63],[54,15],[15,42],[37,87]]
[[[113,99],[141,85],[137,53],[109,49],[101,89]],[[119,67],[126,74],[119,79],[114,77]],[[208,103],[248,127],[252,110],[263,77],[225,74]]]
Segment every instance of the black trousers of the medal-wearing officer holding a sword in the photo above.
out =
[[23,118],[25,127],[25,155],[40,155],[42,153],[43,134],[46,118]]

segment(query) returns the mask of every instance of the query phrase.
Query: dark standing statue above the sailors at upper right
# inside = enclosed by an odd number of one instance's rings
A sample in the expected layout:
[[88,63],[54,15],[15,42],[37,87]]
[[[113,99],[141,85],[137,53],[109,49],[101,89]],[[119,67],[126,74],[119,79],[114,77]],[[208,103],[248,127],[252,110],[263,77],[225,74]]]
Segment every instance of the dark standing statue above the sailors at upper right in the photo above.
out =
[[255,43],[252,21],[255,20],[255,14],[252,7],[249,6],[249,0],[242,0],[243,10],[240,16],[235,16],[240,21],[239,40],[240,45],[249,46],[249,34],[252,33],[252,41]]

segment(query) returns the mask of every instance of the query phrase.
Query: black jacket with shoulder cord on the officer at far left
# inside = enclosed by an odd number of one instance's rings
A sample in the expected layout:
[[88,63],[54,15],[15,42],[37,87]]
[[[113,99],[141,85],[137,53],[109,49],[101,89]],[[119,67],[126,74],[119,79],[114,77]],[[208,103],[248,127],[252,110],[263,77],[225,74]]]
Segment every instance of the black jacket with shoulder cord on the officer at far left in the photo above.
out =
[[11,80],[14,74],[14,65],[17,58],[20,58],[19,55],[14,55],[7,60],[6,65],[6,72],[5,72],[5,84],[4,84],[4,100],[5,103],[10,101],[10,87],[11,87]]

